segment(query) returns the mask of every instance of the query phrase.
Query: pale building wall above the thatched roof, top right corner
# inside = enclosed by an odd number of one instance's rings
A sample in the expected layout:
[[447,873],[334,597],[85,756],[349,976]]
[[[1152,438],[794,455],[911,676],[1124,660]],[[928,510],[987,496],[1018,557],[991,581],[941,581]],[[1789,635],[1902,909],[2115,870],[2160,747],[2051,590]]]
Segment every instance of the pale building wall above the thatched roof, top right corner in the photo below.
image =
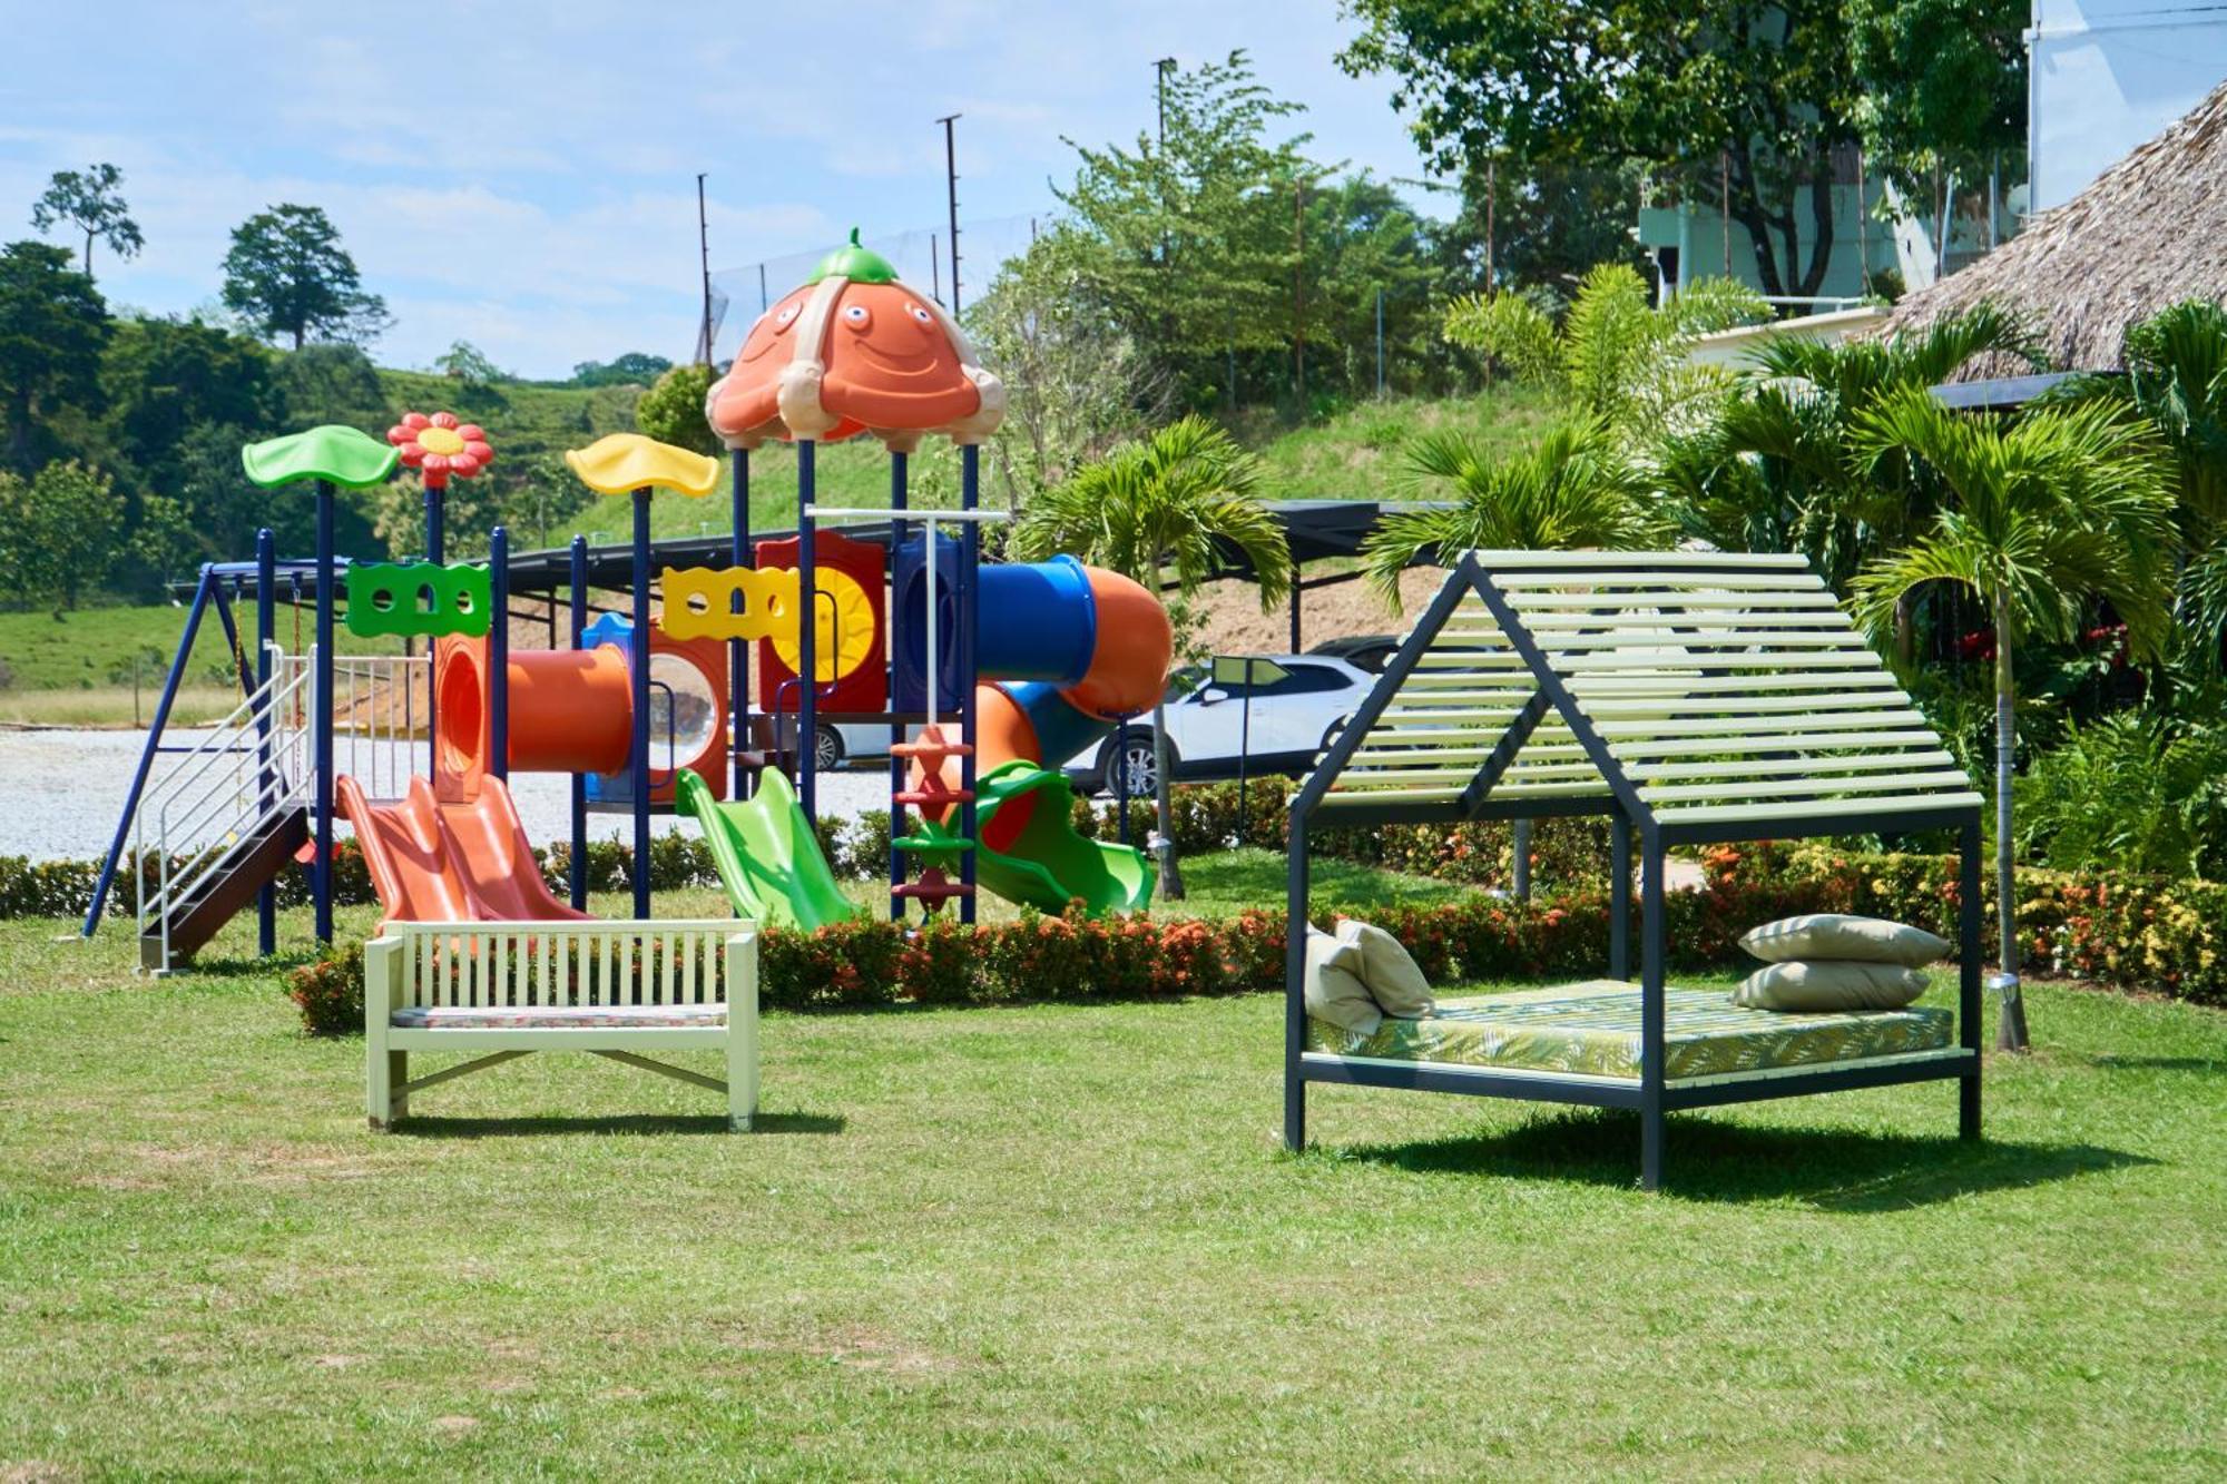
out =
[[2080,194],[2227,78],[2220,0],[2033,0],[2033,207]]

